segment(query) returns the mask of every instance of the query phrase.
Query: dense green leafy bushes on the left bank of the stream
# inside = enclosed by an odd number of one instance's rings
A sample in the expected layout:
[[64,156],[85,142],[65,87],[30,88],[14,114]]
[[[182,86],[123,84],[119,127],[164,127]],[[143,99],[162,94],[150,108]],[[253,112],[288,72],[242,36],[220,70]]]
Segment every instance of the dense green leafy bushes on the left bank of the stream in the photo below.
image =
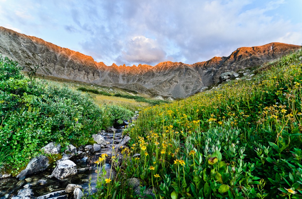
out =
[[48,142],[79,146],[106,125],[89,95],[25,78],[16,62],[2,57],[0,118],[0,162],[5,157],[14,173]]

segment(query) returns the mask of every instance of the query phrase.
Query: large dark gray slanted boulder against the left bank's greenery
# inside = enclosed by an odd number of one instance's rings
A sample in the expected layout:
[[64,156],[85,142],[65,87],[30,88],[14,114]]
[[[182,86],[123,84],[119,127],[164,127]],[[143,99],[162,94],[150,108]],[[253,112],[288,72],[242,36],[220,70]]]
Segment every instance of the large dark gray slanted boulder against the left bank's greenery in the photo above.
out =
[[43,155],[40,155],[31,159],[31,161],[27,164],[26,168],[18,174],[17,178],[24,179],[26,176],[38,173],[40,171],[44,171],[48,166],[48,158]]

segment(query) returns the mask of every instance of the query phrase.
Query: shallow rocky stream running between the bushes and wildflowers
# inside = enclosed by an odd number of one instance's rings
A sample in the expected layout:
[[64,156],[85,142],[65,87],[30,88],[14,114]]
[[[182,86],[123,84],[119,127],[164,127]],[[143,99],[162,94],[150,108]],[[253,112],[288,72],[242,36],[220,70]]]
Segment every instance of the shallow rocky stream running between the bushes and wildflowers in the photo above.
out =
[[[110,132],[102,132],[102,136],[105,141],[107,141],[107,145],[105,148],[101,148],[101,151],[98,151],[93,157],[98,157],[101,154],[108,154],[111,156],[112,154],[112,146],[116,146],[120,143],[122,139],[122,129],[123,126],[117,128],[115,133]],[[114,139],[113,139],[114,138]],[[109,142],[109,143],[108,143]],[[52,173],[52,170],[44,171],[43,173],[39,173],[33,176],[27,176],[24,180],[18,180],[15,177],[8,177],[4,179],[0,179],[0,199],[11,198],[14,195],[17,195],[17,191],[23,189],[24,185],[32,184],[31,189],[34,192],[34,197],[42,196],[54,191],[65,190],[68,184],[77,184],[81,185],[84,195],[90,193],[94,193],[96,191],[95,185],[97,181],[97,165],[91,164],[89,165],[88,157],[83,157],[79,160],[71,159],[76,163],[78,173],[76,175],[72,175],[69,178],[58,180],[56,178],[47,178]],[[104,165],[105,170],[107,171],[107,175],[110,175],[111,164],[107,163]],[[114,175],[114,173],[111,173]],[[38,183],[39,180],[46,180],[47,183],[44,185],[40,185]],[[89,187],[89,179],[90,187]],[[89,191],[88,191],[89,189]]]

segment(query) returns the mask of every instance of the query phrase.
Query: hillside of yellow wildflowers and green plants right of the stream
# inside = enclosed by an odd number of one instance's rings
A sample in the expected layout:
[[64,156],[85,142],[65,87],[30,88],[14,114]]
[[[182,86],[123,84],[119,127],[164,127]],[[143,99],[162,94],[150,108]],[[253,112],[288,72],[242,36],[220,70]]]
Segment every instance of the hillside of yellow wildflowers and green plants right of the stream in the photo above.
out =
[[[252,80],[141,111],[127,129],[125,175],[156,198],[301,198],[301,63],[298,51]],[[119,180],[99,193],[131,197]]]

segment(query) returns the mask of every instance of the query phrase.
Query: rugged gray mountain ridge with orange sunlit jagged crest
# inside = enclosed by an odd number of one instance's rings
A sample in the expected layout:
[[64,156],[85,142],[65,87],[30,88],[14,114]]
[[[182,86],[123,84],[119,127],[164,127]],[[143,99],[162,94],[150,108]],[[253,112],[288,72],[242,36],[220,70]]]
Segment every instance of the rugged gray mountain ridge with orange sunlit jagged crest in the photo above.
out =
[[217,83],[224,72],[273,61],[298,48],[300,46],[270,43],[238,48],[228,57],[214,57],[192,65],[166,61],[156,66],[106,66],[90,56],[0,27],[0,53],[18,61],[24,70],[40,65],[38,73],[45,75],[173,98],[188,97]]

